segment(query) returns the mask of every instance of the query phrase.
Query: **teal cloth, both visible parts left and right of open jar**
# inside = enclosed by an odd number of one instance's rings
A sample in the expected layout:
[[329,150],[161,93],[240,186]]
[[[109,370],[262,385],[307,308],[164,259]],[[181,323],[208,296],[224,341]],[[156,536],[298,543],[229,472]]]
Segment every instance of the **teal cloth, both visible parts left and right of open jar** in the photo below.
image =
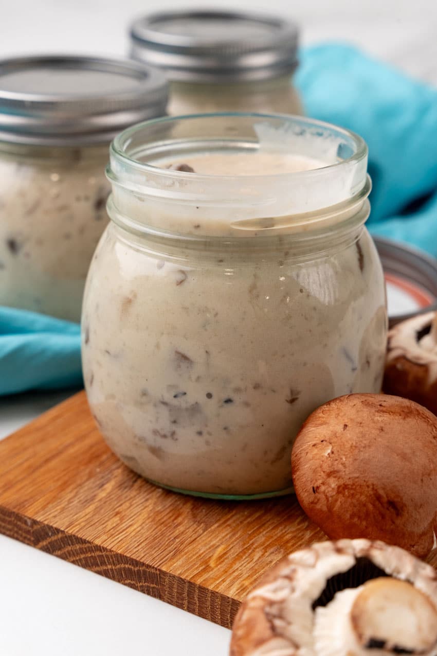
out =
[[[347,45],[301,51],[305,113],[364,137],[373,234],[437,256],[437,90]],[[0,394],[82,384],[79,325],[0,308]]]

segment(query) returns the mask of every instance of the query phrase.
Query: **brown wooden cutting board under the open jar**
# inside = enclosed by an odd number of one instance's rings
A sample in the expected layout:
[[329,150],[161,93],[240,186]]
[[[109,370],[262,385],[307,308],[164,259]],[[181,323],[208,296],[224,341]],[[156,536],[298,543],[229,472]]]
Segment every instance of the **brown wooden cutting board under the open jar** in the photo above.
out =
[[268,567],[326,539],[293,496],[208,501],[145,482],[85,392],[0,442],[0,531],[227,628]]

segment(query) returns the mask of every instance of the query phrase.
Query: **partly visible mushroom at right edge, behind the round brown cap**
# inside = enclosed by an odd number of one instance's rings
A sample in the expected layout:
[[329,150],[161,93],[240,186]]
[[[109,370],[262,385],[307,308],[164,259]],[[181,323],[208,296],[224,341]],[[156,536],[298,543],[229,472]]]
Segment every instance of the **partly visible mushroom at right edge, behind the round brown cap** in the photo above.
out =
[[402,321],[389,332],[383,389],[437,415],[437,314]]

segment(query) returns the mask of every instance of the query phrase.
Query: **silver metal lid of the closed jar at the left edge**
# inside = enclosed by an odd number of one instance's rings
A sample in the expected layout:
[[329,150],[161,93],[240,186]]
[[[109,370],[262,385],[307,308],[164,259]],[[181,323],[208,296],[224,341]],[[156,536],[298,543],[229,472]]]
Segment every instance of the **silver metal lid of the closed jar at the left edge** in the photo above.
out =
[[0,141],[37,145],[109,142],[132,123],[165,113],[161,71],[129,60],[31,56],[0,60]]

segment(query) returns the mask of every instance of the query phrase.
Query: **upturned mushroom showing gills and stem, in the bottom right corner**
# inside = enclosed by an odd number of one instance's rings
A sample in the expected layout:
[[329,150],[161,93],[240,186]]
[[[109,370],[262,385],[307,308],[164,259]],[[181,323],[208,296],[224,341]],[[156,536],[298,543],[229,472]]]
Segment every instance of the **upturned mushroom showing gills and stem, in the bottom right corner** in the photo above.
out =
[[[383,576],[375,578],[377,572]],[[330,600],[316,605],[333,580]],[[230,653],[436,656],[436,571],[381,542],[313,544],[281,560],[248,594]]]

